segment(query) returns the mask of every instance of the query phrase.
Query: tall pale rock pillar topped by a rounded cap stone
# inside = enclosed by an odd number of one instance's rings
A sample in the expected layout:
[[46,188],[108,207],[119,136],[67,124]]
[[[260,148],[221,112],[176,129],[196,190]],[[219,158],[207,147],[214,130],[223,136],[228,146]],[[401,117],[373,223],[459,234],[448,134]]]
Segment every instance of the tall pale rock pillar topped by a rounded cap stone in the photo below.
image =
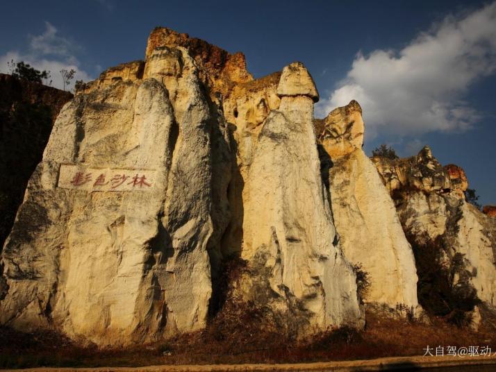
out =
[[[295,76],[291,76],[295,74]],[[299,62],[283,70],[279,110],[267,117],[245,184],[240,291],[298,333],[357,326],[356,278],[337,245],[313,129],[315,87]]]

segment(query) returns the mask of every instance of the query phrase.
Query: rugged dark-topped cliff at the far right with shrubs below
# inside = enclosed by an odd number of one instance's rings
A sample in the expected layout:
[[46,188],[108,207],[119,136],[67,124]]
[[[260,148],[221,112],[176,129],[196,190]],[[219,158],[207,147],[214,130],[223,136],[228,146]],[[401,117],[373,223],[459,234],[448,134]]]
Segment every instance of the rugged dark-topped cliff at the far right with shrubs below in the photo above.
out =
[[450,164],[443,167],[425,146],[411,158],[372,159],[388,187],[402,226],[416,244],[439,242],[441,262],[463,269],[454,285],[477,290],[477,296],[495,305],[496,223],[465,201],[468,188],[465,172]]

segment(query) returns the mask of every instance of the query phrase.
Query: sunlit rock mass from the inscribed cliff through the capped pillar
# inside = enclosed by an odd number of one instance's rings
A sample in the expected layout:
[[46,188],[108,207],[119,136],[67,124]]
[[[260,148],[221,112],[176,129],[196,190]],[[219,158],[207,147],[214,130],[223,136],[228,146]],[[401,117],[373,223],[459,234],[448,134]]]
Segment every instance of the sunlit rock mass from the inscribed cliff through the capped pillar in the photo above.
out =
[[254,81],[242,54],[156,28],[144,61],[79,88],[3,249],[1,324],[99,346],[200,330],[238,255],[240,293],[299,335],[363,325],[301,64]]

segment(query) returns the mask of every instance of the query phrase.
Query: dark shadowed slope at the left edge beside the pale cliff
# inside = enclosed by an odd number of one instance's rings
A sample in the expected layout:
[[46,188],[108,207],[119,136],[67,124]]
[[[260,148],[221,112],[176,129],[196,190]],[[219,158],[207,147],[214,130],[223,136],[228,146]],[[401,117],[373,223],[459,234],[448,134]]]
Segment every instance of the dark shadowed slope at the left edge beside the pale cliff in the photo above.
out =
[[0,74],[0,252],[50,130],[72,94]]

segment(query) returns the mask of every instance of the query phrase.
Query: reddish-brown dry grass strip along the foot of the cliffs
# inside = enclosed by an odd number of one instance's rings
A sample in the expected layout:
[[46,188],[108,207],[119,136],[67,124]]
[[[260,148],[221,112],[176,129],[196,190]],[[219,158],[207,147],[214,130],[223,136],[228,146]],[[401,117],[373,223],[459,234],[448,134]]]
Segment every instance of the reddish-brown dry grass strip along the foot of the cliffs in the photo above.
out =
[[[240,309],[238,309],[240,310]],[[233,309],[229,316],[236,311]],[[231,319],[232,320],[232,319]],[[367,314],[361,332],[342,328],[306,341],[295,341],[264,326],[251,308],[245,318],[214,319],[207,330],[177,337],[167,344],[97,350],[80,348],[49,332],[20,334],[0,329],[0,368],[30,366],[143,366],[152,364],[295,363],[422,355],[427,345],[486,346],[496,350],[494,332],[457,328],[443,319],[431,325]]]

